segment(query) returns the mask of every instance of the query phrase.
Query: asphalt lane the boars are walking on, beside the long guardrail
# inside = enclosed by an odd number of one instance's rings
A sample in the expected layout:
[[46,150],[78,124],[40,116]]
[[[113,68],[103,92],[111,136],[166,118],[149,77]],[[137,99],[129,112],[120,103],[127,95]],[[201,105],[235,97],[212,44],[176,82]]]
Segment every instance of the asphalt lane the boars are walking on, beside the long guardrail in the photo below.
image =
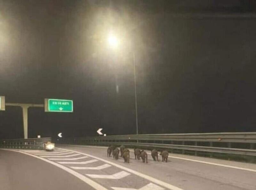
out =
[[[152,157],[148,155],[148,164],[142,163],[134,159],[134,154],[131,152],[130,164],[124,163],[123,159],[117,161],[113,157],[107,157],[106,148],[102,147],[85,147],[85,146],[63,146],[60,148],[71,149],[81,153],[91,154],[105,160],[118,163],[124,167],[130,168],[134,171],[147,174],[155,179],[159,179],[166,183],[172,184],[182,189],[188,190],[255,190],[256,189],[256,165],[250,163],[239,163],[225,160],[218,160],[212,158],[203,158],[196,156],[184,156],[169,154],[181,158],[193,158],[199,162],[190,160],[168,158],[169,162],[154,162]],[[160,157],[159,157],[160,158]],[[160,160],[160,159],[159,159]],[[252,171],[244,171],[240,169],[228,168],[212,164],[205,164],[200,162],[209,162],[213,164],[222,164],[232,167],[252,169]]]

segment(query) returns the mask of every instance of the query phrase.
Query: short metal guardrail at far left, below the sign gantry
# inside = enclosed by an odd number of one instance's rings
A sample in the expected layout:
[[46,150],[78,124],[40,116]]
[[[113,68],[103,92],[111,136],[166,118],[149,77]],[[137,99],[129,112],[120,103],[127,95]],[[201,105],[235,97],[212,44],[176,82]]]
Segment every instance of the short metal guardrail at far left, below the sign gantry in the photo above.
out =
[[17,149],[44,149],[44,143],[52,141],[52,138],[33,138],[33,139],[2,139],[0,148]]

